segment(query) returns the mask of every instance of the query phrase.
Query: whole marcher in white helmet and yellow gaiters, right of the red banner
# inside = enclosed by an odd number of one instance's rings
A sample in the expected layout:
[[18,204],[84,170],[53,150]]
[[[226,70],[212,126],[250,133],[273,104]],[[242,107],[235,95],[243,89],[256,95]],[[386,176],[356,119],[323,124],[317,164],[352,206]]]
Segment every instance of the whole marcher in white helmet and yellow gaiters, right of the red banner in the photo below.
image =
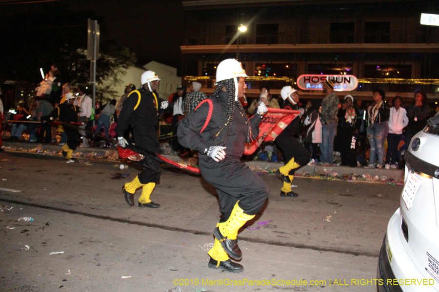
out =
[[[297,109],[297,103],[299,102],[299,94],[297,93],[297,90],[291,86],[285,86],[280,91],[280,96],[284,100],[282,109]],[[309,161],[309,151],[306,150],[296,138],[303,127],[300,119],[303,112],[304,110],[300,109],[300,114],[283,129],[275,140],[285,156],[285,162],[287,162],[284,166],[279,167],[279,170],[276,172],[283,181],[283,186],[280,189],[281,197],[299,196],[291,189],[291,183],[293,182],[296,169],[301,165],[307,164]]]

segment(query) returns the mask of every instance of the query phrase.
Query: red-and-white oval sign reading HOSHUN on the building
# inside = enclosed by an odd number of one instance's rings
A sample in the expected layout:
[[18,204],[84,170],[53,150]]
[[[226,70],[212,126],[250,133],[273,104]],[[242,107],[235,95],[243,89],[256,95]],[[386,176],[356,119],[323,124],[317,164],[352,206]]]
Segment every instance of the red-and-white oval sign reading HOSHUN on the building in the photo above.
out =
[[354,75],[300,75],[297,85],[302,90],[323,90],[321,83],[326,80],[334,82],[334,91],[353,91],[358,86],[357,77]]

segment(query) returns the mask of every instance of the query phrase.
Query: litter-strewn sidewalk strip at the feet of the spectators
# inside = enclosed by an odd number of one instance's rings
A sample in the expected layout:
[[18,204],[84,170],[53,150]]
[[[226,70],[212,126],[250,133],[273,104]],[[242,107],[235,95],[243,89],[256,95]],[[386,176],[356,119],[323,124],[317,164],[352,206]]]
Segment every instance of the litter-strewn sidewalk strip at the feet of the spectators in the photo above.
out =
[[[56,144],[36,144],[36,143],[24,143],[24,142],[8,142],[3,141],[3,147],[5,151],[22,151],[32,152],[41,155],[60,155],[61,146]],[[110,148],[80,148],[78,147],[73,156],[91,159],[91,160],[106,160],[106,161],[118,161],[119,155],[116,147]],[[174,160],[178,163],[187,162],[187,159],[183,159],[178,155],[163,154],[163,157]],[[259,173],[272,173],[276,171],[283,163],[279,162],[266,162],[266,161],[244,161],[253,171]],[[374,169],[364,167],[349,167],[349,166],[321,166],[318,164],[304,165],[296,171],[300,176],[330,176],[338,178],[348,178],[349,180],[356,180],[357,177],[364,178],[367,181],[404,181],[403,169]]]

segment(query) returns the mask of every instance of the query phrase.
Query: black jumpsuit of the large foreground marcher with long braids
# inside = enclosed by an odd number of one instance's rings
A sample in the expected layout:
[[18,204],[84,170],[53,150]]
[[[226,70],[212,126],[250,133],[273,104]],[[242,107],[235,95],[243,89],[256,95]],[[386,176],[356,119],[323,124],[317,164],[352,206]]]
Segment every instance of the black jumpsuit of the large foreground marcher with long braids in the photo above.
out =
[[[232,212],[236,202],[248,215],[256,215],[266,201],[269,189],[267,184],[259,178],[248,166],[240,162],[244,153],[244,145],[247,139],[248,126],[244,116],[235,105],[232,129],[227,141],[222,141],[227,128],[224,128],[218,136],[222,115],[226,111],[226,92],[220,91],[218,95],[211,95],[209,99],[213,103],[213,113],[207,127],[200,133],[204,126],[209,110],[209,104],[203,103],[199,109],[193,111],[185,119],[181,120],[177,134],[182,146],[196,149],[200,152],[200,171],[203,178],[216,187],[220,197],[220,222],[225,222]],[[262,116],[259,114],[250,118],[253,139],[257,139],[259,122]],[[216,162],[204,154],[210,146],[225,146],[226,156]]]

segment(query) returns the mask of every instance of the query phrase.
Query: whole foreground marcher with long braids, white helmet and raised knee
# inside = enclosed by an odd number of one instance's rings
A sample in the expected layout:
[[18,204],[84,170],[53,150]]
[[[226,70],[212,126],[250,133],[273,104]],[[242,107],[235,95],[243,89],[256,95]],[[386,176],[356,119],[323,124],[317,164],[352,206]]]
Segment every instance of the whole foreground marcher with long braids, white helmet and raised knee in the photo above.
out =
[[209,268],[239,273],[243,267],[229,259],[241,259],[238,230],[255,217],[268,197],[268,186],[240,162],[244,144],[257,139],[259,123],[267,107],[261,103],[248,119],[238,98],[243,97],[245,71],[235,59],[217,68],[214,93],[181,120],[177,134],[181,145],[200,152],[200,171],[220,198],[222,217],[214,229],[215,244],[208,255]]

